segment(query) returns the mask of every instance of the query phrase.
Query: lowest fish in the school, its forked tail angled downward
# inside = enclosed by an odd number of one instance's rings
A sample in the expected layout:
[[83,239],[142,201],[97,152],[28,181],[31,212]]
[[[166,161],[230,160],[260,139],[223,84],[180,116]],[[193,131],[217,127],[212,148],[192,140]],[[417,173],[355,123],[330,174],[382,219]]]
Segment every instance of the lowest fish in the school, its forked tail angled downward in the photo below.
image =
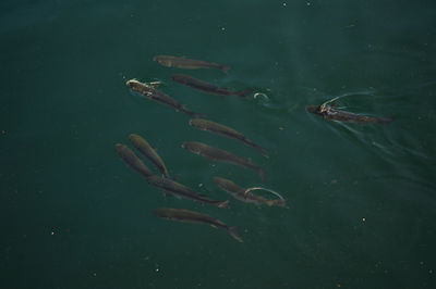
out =
[[229,235],[233,237],[237,241],[243,242],[241,236],[238,233],[238,227],[235,226],[230,227],[225,223],[222,223],[221,221],[219,221],[218,218],[215,218],[206,214],[183,209],[172,209],[172,208],[155,209],[153,213],[156,216],[166,219],[174,219],[174,221],[190,222],[190,223],[202,223],[202,224],[208,224],[213,227],[220,227],[226,229],[229,233]]

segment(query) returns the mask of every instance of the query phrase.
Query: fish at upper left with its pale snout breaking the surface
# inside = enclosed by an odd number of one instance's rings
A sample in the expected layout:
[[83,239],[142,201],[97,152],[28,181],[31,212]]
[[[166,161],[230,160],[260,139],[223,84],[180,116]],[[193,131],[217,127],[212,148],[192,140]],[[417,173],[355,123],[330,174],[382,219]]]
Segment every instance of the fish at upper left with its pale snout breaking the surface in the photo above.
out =
[[130,79],[126,83],[126,86],[129,86],[133,91],[138,92],[143,95],[144,97],[154,100],[156,102],[166,104],[170,108],[173,108],[175,111],[182,111],[186,113],[187,115],[192,117],[203,117],[205,114],[202,113],[196,113],[193,111],[190,111],[186,106],[174,100],[173,98],[165,95],[164,92],[155,89],[153,86],[149,86],[147,84],[140,83],[136,79]]

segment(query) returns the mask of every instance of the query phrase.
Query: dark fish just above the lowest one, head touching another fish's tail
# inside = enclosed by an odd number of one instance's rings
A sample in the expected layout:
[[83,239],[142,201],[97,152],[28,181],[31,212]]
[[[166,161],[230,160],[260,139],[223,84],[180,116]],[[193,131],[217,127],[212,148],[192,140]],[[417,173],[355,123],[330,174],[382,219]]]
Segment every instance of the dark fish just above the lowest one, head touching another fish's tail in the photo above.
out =
[[229,200],[226,201],[216,201],[213,199],[209,199],[208,197],[197,193],[193,189],[179,184],[172,179],[160,177],[160,176],[150,176],[147,178],[148,184],[152,186],[158,187],[166,192],[172,193],[175,197],[182,197],[185,199],[191,199],[194,201],[198,201],[202,203],[208,203],[215,206],[218,206],[220,209],[228,209],[229,208]]

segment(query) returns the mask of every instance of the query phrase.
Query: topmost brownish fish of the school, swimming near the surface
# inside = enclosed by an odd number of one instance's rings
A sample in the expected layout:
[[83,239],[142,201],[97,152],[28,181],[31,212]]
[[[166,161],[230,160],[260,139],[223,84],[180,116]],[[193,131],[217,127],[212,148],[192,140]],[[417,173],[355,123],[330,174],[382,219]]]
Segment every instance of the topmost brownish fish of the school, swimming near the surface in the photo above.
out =
[[178,67],[184,70],[218,68],[223,73],[228,73],[230,71],[230,66],[227,65],[202,60],[186,59],[184,56],[157,55],[154,56],[153,60],[167,67]]

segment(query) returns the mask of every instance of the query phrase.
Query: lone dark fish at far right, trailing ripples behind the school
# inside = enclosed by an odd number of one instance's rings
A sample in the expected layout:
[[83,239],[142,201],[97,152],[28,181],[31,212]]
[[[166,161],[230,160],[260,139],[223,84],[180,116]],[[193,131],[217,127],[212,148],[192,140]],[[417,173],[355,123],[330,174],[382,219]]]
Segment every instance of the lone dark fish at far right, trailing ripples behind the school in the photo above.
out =
[[316,115],[319,115],[329,121],[339,121],[346,123],[358,123],[358,124],[389,124],[392,118],[389,117],[374,117],[368,115],[360,115],[351,112],[335,110],[331,106],[325,105],[310,105],[306,106],[306,111]]

